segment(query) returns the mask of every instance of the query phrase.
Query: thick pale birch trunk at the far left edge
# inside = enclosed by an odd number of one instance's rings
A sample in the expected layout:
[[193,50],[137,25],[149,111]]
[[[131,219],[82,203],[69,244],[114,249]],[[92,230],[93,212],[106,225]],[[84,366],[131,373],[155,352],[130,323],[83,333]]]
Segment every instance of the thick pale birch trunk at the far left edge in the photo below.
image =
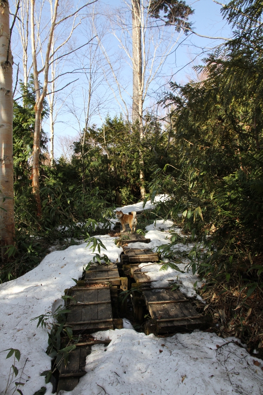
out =
[[[2,261],[6,245],[14,244],[13,97],[9,4],[0,0],[0,238]],[[3,198],[5,198],[4,201]]]

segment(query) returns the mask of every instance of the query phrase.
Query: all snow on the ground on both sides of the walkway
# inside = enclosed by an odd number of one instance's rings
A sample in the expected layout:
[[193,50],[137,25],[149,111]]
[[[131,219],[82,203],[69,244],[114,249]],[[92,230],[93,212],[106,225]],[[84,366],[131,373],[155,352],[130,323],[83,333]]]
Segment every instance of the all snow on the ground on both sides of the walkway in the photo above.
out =
[[[139,203],[136,208],[132,206],[128,210],[139,210],[138,207]],[[168,243],[172,225],[171,221],[163,223],[158,220],[155,225],[147,227],[147,237],[151,239],[147,247],[154,250]],[[98,238],[107,248],[107,251],[102,249],[101,254],[106,253],[111,261],[119,259],[122,249],[114,244],[114,238],[108,235]],[[146,245],[136,243],[134,246],[145,248]],[[5,359],[7,351],[4,350],[9,348],[21,352],[20,361],[15,362],[20,369],[15,381],[24,383],[20,387],[23,394],[33,395],[42,386],[47,388],[46,395],[51,394],[52,385],[45,384],[44,377],[39,376],[51,366],[51,358],[45,354],[47,329],[37,328],[37,321],[30,319],[54,311],[62,303],[64,289],[75,285],[72,278],[81,276],[83,266],[92,260],[94,254],[85,247],[86,243],[83,243],[51,252],[37,268],[0,285],[0,394],[5,393],[13,363],[12,358]],[[187,246],[182,245],[182,248]],[[193,284],[197,277],[190,271],[181,273],[168,268],[160,272],[161,265],[148,266],[146,263],[141,266],[147,266],[144,270],[150,278],[157,280],[155,284],[167,285],[169,279],[174,279],[182,292],[195,295]],[[183,264],[179,266],[180,270],[185,267]],[[263,371],[253,364],[253,358],[246,350],[229,344],[217,351],[217,345],[228,339],[205,332],[159,339],[137,333],[127,320],[124,328],[95,335],[98,339],[110,338],[112,342],[107,352],[101,345],[92,348],[87,357],[88,373],[81,378],[73,395],[260,394]],[[18,379],[24,364],[22,378]],[[13,393],[13,387],[7,395]]]

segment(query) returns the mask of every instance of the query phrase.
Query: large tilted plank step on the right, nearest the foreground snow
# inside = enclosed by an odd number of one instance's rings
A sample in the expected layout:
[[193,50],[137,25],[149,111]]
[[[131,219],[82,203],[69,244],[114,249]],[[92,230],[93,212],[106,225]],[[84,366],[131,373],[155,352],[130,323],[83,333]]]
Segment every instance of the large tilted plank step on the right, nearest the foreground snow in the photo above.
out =
[[142,295],[152,318],[146,324],[147,334],[174,333],[207,327],[206,317],[197,314],[192,303],[179,290],[148,288],[142,290]]

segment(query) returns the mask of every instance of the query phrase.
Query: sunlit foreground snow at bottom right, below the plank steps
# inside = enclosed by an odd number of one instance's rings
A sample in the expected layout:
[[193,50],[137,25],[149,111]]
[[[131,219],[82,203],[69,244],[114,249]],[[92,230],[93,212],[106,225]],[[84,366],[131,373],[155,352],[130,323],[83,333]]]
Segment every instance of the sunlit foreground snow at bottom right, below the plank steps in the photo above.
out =
[[245,349],[217,348],[234,338],[201,331],[157,338],[131,329],[96,338],[112,341],[92,347],[87,374],[69,395],[257,395],[262,388],[263,371]]

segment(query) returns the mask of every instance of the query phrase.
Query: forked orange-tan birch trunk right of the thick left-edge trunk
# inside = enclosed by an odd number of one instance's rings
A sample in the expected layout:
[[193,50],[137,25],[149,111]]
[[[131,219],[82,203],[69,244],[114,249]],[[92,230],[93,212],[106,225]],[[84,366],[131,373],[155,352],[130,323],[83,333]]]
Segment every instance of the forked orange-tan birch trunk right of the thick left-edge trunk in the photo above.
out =
[[55,0],[54,14],[51,21],[50,33],[45,54],[44,63],[44,82],[42,92],[40,93],[40,86],[38,81],[38,61],[36,51],[36,39],[35,39],[35,0],[31,0],[31,46],[32,46],[32,59],[33,59],[33,71],[34,71],[34,88],[36,91],[36,105],[35,105],[35,131],[34,131],[34,145],[33,145],[33,169],[32,169],[32,187],[33,194],[35,195],[37,202],[37,214],[41,216],[41,201],[40,201],[40,190],[39,190],[39,154],[40,154],[40,133],[41,133],[41,114],[43,110],[43,101],[47,93],[48,83],[48,72],[49,72],[49,57],[50,49],[52,45],[54,29],[57,18],[58,0]]

